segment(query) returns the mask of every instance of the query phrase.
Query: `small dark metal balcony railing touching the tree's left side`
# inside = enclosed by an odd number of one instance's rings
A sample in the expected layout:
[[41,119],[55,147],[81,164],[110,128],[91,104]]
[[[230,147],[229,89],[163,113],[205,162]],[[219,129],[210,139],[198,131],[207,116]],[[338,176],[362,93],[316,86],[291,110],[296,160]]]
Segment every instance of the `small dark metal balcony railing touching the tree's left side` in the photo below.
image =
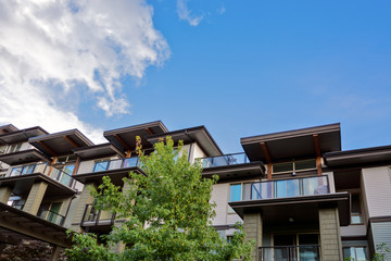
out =
[[81,226],[85,225],[113,225],[115,214],[105,210],[97,210],[93,204],[86,204]]

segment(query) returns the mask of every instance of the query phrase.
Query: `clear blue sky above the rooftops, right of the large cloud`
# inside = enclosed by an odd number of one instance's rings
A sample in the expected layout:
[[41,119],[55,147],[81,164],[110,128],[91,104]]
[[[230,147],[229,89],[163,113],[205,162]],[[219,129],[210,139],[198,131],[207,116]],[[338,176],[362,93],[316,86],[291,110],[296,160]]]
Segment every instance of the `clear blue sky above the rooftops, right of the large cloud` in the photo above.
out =
[[[148,38],[153,44],[147,46],[162,58],[155,59],[149,49],[140,71],[133,67],[111,76],[121,85],[113,87],[115,95],[105,97],[113,104],[99,100],[97,94],[102,92],[93,92],[88,84],[70,87],[74,91],[70,95],[66,80],[60,80],[60,92],[67,99],[54,99],[55,109],[70,109],[87,129],[155,120],[171,130],[205,125],[228,153],[242,151],[240,137],[341,123],[344,150],[391,144],[389,1],[136,2],[141,11],[146,7],[151,11],[143,17],[151,18],[148,32],[157,36]],[[135,21],[124,16],[123,22],[126,30]],[[147,30],[140,32],[144,39]],[[114,41],[116,53],[112,52],[119,62],[113,67],[109,62],[93,64],[97,69],[127,67],[127,61],[137,57],[138,50],[126,44],[138,34],[114,34],[121,37],[113,39],[122,39]],[[125,48],[133,54],[122,57]],[[62,75],[50,77],[50,73],[43,82],[53,91],[48,78],[62,79]],[[108,115],[111,109],[118,113]],[[11,120],[0,116],[0,122]],[[23,119],[15,125],[24,125]]]

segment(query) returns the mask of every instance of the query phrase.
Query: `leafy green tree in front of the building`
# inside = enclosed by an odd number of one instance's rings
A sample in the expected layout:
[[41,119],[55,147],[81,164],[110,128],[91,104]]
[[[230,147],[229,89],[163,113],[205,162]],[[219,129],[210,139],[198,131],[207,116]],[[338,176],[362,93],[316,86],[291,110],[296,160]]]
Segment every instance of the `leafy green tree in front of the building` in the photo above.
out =
[[[140,139],[137,139],[140,144]],[[110,210],[126,222],[113,227],[106,245],[89,234],[75,234],[75,246],[67,250],[71,260],[250,260],[252,241],[244,243],[238,224],[230,243],[212,227],[214,203],[210,202],[214,178],[202,178],[200,162],[188,162],[187,151],[167,137],[154,145],[154,152],[143,156],[143,174],[124,178],[125,192],[109,177],[92,194],[96,207]],[[124,244],[121,253],[110,245]]]

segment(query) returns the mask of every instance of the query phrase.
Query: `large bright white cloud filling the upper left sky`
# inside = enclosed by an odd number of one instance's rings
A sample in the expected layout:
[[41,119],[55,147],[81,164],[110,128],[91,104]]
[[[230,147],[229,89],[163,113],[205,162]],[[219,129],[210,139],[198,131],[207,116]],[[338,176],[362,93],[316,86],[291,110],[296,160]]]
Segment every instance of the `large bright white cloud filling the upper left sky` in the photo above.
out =
[[169,55],[144,0],[0,0],[0,123],[101,129],[75,110],[81,91],[108,116],[128,113],[119,79]]

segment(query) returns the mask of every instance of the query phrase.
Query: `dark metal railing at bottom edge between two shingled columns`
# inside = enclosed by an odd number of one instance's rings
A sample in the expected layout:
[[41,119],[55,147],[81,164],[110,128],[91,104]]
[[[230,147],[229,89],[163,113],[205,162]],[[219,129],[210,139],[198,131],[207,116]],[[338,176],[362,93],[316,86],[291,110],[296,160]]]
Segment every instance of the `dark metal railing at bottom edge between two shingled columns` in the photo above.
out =
[[260,247],[261,261],[320,261],[319,245]]

